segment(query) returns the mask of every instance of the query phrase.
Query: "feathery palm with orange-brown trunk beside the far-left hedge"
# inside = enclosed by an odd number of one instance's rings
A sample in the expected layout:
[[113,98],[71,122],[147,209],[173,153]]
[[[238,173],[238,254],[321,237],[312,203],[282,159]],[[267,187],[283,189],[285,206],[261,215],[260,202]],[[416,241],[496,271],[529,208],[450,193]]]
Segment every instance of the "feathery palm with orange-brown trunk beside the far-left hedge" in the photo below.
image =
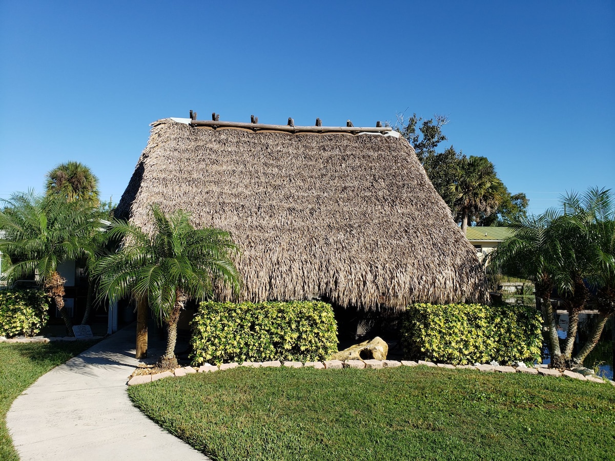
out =
[[58,266],[93,254],[92,235],[100,229],[100,221],[93,219],[94,209],[33,191],[17,192],[2,202],[5,207],[0,211],[0,230],[4,230],[4,237],[0,251],[12,261],[6,270],[7,279],[34,275],[54,300],[72,336],[72,322],[64,309],[66,280]]

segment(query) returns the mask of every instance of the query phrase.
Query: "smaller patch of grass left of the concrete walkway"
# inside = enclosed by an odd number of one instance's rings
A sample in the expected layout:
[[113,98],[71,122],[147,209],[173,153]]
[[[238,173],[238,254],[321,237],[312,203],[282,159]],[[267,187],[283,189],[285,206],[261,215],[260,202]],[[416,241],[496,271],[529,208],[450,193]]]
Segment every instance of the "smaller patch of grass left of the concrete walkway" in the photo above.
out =
[[95,341],[0,343],[0,459],[18,460],[6,427],[11,404],[50,369],[92,347]]

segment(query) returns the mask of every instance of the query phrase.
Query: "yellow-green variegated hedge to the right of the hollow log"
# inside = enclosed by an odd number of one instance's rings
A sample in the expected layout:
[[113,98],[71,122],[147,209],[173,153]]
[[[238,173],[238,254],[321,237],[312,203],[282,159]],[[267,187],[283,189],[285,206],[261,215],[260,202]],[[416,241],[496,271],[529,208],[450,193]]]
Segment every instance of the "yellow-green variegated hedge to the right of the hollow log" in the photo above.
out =
[[452,364],[541,358],[541,316],[525,305],[413,304],[400,333],[407,358]]

